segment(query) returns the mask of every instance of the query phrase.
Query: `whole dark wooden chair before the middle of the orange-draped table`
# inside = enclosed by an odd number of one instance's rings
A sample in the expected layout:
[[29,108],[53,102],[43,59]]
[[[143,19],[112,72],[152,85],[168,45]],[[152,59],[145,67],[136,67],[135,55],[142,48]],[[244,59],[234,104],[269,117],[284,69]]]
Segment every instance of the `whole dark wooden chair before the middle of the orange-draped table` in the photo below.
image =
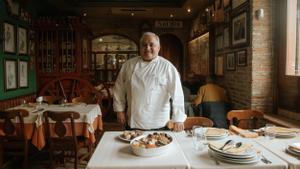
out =
[[[53,112],[45,111],[45,130],[47,142],[49,144],[49,155],[51,168],[53,168],[54,153],[60,152],[60,155],[64,157],[72,156],[74,157],[74,168],[77,169],[78,166],[78,150],[84,146],[80,144],[77,140],[75,133],[74,120],[79,119],[80,114],[77,112]],[[54,123],[50,123],[50,119]],[[64,123],[71,125],[71,135],[67,135],[67,128]],[[72,153],[66,153],[70,151]]]

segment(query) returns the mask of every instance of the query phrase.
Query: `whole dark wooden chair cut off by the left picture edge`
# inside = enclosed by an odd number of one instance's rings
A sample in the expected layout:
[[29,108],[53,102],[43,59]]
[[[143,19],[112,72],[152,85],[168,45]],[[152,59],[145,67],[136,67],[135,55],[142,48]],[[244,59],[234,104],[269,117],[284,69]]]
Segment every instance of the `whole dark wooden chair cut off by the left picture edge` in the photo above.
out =
[[[28,140],[25,136],[24,117],[28,111],[15,109],[0,112],[0,120],[3,120],[0,129],[0,168],[3,165],[4,156],[23,156],[22,168],[28,167]],[[18,123],[14,123],[13,120]],[[0,133],[1,133],[0,132]]]

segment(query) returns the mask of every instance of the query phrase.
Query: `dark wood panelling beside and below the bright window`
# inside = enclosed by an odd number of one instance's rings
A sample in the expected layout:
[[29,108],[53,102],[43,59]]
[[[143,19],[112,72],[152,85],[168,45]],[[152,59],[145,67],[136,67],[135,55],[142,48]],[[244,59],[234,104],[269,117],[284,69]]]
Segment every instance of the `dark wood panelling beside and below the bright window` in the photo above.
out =
[[300,77],[285,74],[286,58],[286,0],[276,1],[274,5],[275,48],[278,58],[278,108],[300,113]]

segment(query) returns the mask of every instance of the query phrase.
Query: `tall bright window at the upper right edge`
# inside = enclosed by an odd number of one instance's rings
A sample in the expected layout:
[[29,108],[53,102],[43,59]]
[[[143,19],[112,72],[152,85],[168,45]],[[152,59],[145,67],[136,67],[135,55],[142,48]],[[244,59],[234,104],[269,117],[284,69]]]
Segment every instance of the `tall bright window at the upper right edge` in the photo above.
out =
[[300,0],[287,0],[286,75],[300,76]]

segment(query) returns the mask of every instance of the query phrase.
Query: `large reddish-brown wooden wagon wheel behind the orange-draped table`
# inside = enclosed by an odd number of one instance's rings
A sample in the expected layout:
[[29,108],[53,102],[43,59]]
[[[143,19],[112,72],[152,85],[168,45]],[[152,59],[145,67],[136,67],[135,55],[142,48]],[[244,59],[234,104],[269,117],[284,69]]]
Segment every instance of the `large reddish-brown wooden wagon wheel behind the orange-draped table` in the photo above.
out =
[[109,92],[108,95],[103,95],[89,81],[76,77],[60,77],[51,80],[40,90],[39,96],[63,97],[68,101],[74,97],[92,96],[99,103],[102,116],[108,113],[112,103]]

